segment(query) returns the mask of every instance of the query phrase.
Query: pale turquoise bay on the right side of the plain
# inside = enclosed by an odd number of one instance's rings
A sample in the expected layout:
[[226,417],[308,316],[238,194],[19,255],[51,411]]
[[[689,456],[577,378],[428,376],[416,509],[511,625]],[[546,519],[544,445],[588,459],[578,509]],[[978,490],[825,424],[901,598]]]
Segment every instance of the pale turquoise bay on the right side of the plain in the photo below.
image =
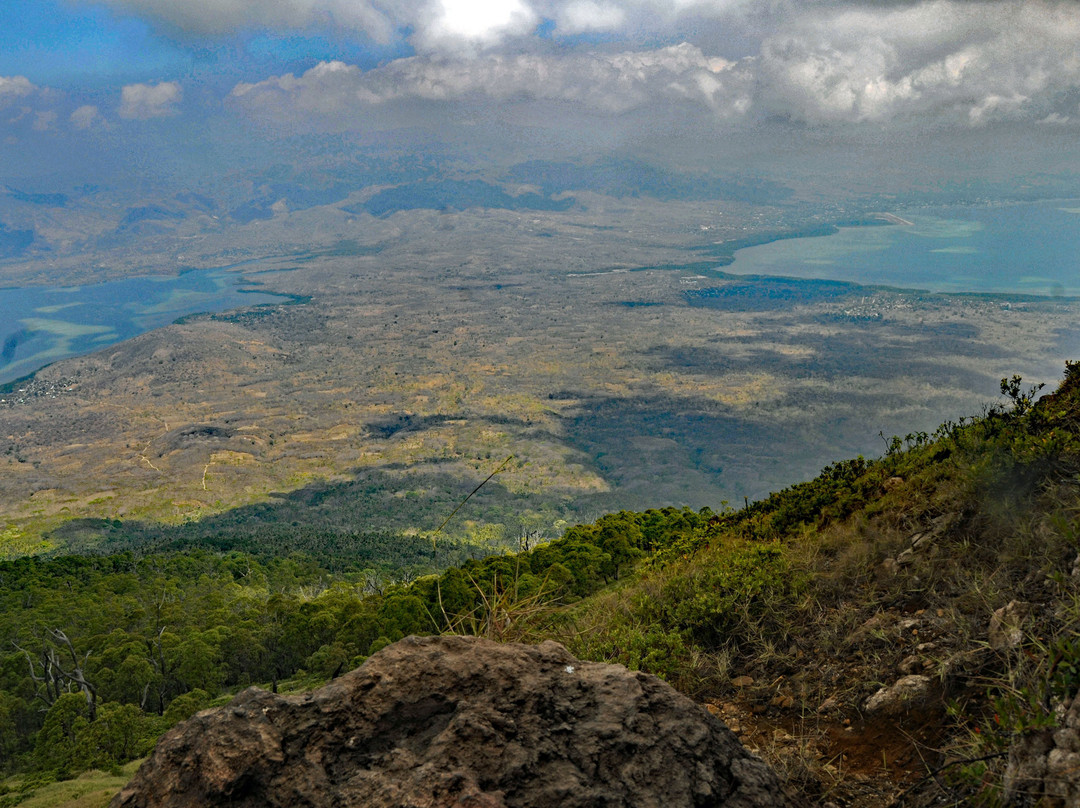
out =
[[850,227],[735,253],[737,274],[931,292],[1080,296],[1080,201],[926,207],[910,224]]

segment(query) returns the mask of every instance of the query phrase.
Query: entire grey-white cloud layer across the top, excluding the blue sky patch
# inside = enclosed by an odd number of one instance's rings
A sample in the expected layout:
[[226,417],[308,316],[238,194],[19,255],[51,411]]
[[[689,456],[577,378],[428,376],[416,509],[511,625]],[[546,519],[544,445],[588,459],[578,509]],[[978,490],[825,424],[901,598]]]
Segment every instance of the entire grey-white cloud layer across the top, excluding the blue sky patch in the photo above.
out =
[[[403,110],[436,133],[447,116],[554,127],[564,113],[657,133],[685,117],[716,136],[778,121],[827,132],[1080,125],[1080,4],[1063,0],[106,2],[190,36],[363,31],[407,37],[415,55],[368,70],[324,60],[235,83],[224,98],[204,85],[188,104],[175,80],[130,83],[118,104],[0,77],[6,121],[83,132],[212,115],[224,102],[285,131],[395,125]],[[720,28],[742,31],[738,48]]]

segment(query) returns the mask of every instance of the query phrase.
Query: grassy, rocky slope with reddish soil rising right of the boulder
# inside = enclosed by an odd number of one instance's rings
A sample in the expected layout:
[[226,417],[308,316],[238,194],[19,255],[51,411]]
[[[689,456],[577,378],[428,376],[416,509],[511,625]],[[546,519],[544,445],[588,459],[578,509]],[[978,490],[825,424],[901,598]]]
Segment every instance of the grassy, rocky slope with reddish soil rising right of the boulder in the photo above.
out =
[[[712,703],[808,795],[994,804],[1010,740],[1080,684],[1080,365],[1009,392],[716,521],[555,633]],[[1013,601],[1022,639],[994,648]],[[867,710],[913,674],[924,702]]]

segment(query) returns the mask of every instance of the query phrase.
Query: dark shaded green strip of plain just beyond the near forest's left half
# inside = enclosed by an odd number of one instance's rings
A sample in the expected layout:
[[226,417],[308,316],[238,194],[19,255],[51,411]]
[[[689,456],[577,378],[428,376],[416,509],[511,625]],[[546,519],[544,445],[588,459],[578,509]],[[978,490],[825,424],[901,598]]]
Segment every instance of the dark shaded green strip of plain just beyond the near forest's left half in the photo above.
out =
[[[492,463],[492,469],[497,463]],[[487,472],[468,479],[438,472],[394,473],[362,470],[346,482],[318,482],[266,502],[234,508],[179,525],[131,520],[81,519],[50,534],[65,553],[167,552],[190,548],[287,555],[301,552],[330,570],[375,568],[424,570],[517,549],[523,531],[551,533],[558,520],[576,521],[589,508],[581,499],[553,501],[550,495],[508,490],[498,479],[487,483],[454,523],[433,531]],[[476,536],[467,520],[501,525]],[[553,536],[549,536],[552,538]]]

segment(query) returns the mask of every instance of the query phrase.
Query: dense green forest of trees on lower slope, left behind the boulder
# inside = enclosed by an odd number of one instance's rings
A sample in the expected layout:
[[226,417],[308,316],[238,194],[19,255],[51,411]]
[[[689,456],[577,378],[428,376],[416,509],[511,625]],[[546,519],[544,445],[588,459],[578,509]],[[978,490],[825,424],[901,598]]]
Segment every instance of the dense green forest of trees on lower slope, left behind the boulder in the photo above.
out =
[[222,690],[325,679],[408,634],[473,628],[485,598],[508,587],[515,601],[581,598],[708,520],[676,509],[612,514],[410,584],[384,583],[360,562],[332,573],[301,553],[2,562],[0,763],[50,777],[116,766]]

